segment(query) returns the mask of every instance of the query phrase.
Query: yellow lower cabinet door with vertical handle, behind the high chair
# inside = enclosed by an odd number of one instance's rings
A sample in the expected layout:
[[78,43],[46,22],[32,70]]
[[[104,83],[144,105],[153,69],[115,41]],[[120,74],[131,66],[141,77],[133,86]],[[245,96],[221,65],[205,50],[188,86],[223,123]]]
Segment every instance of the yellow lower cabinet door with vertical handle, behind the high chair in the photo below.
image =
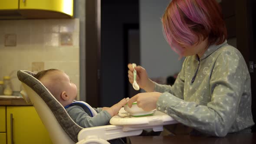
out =
[[7,106],[7,144],[52,144],[33,106]]

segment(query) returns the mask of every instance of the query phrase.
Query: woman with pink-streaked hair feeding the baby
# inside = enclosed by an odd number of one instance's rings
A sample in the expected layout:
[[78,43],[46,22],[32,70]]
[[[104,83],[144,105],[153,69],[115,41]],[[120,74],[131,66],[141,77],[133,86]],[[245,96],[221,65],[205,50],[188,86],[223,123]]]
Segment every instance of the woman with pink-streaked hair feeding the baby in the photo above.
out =
[[[226,26],[216,0],[172,0],[162,17],[171,48],[186,56],[174,85],[160,85],[135,67],[145,93],[137,101],[145,111],[157,109],[200,133],[224,137],[251,132],[250,75],[241,53],[227,41]],[[133,83],[133,68],[128,64]]]

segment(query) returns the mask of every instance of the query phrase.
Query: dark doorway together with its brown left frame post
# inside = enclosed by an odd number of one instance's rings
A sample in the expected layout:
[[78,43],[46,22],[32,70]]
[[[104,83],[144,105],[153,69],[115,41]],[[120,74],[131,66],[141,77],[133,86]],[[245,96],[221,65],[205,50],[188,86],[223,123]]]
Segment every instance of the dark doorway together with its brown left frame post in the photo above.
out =
[[135,47],[131,46],[136,39],[133,24],[135,33],[139,31],[139,1],[86,0],[85,11],[86,102],[92,107],[110,107],[128,97],[127,59],[130,47]]

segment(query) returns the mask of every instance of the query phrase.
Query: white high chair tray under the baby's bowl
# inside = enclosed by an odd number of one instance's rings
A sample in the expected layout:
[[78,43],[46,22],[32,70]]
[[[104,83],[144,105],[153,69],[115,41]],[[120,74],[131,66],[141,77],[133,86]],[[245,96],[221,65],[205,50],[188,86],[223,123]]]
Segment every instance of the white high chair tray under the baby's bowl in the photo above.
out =
[[113,125],[143,125],[143,124],[175,124],[178,123],[171,116],[166,115],[160,111],[155,111],[151,116],[133,117],[121,108],[118,115],[115,115],[110,119],[110,124]]

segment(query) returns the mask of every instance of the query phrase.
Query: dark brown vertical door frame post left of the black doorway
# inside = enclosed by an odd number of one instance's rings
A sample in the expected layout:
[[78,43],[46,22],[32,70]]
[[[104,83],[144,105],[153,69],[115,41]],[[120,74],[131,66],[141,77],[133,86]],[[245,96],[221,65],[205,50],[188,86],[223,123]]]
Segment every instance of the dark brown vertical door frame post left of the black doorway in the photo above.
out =
[[86,102],[100,105],[101,0],[85,2],[85,87]]

